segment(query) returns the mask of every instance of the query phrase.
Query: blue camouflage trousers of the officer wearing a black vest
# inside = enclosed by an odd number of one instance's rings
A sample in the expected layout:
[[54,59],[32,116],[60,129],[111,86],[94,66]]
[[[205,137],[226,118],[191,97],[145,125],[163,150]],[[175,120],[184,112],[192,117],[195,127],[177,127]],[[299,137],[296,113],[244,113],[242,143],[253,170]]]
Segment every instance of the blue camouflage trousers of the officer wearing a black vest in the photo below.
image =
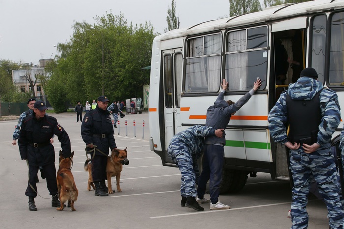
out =
[[306,205],[312,177],[318,185],[320,194],[324,197],[330,228],[343,229],[344,211],[340,203],[337,169],[330,144],[323,145],[310,154],[305,153],[301,147],[290,150],[290,170],[294,181],[291,229],[306,229],[308,226]]

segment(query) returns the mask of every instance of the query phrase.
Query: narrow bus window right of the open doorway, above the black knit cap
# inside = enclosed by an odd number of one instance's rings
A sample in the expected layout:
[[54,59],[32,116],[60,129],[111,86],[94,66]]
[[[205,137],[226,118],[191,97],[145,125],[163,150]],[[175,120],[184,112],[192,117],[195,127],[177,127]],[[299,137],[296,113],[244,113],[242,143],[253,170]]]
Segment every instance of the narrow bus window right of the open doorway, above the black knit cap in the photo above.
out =
[[318,80],[324,83],[325,51],[326,51],[326,15],[317,15],[312,18],[312,54],[311,67],[318,73]]

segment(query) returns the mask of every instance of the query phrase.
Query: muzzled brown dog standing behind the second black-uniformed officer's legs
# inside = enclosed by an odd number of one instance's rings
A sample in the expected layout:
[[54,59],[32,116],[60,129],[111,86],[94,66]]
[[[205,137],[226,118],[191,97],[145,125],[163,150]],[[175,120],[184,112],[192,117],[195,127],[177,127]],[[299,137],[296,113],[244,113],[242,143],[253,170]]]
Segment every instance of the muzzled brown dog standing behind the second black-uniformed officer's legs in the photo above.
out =
[[[113,149],[111,151],[111,156],[108,156],[108,162],[106,164],[106,177],[108,180],[108,193],[114,193],[111,186],[111,177],[116,177],[117,182],[117,191],[122,192],[119,180],[120,180],[120,172],[123,169],[123,165],[128,165],[129,160],[127,159],[127,148],[121,150],[121,149]],[[88,171],[88,184],[87,184],[87,191],[91,191],[91,186],[93,189],[95,189],[93,184],[93,178],[92,178],[92,163],[89,163],[89,160],[87,159],[84,164],[84,169]]]

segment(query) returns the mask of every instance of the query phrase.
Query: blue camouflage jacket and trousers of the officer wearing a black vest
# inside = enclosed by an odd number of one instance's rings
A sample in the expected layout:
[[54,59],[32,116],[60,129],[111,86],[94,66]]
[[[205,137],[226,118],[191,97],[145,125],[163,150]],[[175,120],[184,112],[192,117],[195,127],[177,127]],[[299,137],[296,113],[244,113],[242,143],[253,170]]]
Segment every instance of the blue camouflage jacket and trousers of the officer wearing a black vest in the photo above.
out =
[[318,126],[316,143],[320,147],[310,154],[305,153],[301,146],[296,150],[290,150],[290,170],[294,181],[291,229],[305,229],[308,226],[306,205],[312,176],[326,202],[330,228],[344,228],[344,212],[340,203],[336,165],[330,149],[332,134],[340,123],[340,107],[336,92],[323,88],[322,83],[316,79],[301,76],[296,83],[289,85],[287,91],[282,92],[271,109],[268,115],[269,130],[275,142],[287,143],[285,126],[288,121],[287,93],[292,100],[311,100],[319,91],[321,91],[319,100],[322,118]]

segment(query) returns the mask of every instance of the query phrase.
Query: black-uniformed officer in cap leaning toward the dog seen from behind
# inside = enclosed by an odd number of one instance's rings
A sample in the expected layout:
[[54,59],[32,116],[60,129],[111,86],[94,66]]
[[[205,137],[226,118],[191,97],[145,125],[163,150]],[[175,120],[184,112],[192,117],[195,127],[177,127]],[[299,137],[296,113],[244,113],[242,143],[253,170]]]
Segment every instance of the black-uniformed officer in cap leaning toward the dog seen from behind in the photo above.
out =
[[55,151],[50,143],[53,134],[57,135],[61,142],[63,156],[71,155],[67,132],[54,117],[45,115],[46,109],[43,101],[35,102],[33,113],[23,119],[18,139],[20,156],[29,164],[29,182],[25,195],[29,197],[30,211],[37,211],[34,198],[37,196],[35,176],[37,176],[39,166],[43,168],[48,190],[53,196],[52,207],[60,206],[57,196]]

